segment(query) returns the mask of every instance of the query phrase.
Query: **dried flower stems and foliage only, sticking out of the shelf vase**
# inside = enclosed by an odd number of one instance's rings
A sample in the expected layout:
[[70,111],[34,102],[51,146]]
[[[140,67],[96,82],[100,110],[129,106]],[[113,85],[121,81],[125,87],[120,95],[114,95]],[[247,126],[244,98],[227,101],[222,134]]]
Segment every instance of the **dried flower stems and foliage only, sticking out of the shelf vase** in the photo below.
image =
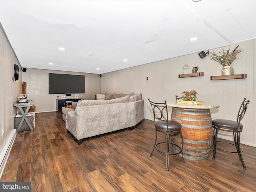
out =
[[240,59],[239,54],[242,52],[242,49],[238,49],[239,45],[234,48],[232,52],[230,52],[230,48],[225,52],[224,48],[222,52],[218,54],[213,52],[209,52],[210,60],[214,60],[219,62],[222,66],[230,66],[234,60]]

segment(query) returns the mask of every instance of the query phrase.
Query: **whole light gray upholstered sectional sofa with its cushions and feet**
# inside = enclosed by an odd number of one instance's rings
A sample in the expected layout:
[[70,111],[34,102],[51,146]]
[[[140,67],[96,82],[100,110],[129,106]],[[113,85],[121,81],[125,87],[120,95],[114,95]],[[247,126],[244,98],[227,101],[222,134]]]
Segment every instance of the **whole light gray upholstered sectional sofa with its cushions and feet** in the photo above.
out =
[[81,100],[72,105],[74,109],[62,108],[63,120],[78,144],[82,143],[83,138],[124,128],[132,130],[144,118],[141,94],[127,94],[109,100]]

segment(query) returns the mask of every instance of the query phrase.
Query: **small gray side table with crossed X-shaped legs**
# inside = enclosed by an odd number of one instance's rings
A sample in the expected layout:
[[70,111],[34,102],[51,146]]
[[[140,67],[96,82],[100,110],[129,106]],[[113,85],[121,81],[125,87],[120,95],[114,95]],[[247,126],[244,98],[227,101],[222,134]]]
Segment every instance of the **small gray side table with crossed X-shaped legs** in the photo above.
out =
[[32,131],[34,130],[33,127],[31,126],[28,118],[27,118],[28,110],[33,105],[34,105],[34,101],[33,100],[28,100],[28,102],[26,102],[26,103],[18,103],[18,102],[14,103],[14,107],[19,108],[21,114],[23,115],[23,117],[22,117],[22,119],[20,121],[20,124],[19,124],[19,126],[17,128],[17,133],[19,132],[20,127],[22,126],[22,123],[24,122],[24,120],[27,122],[28,127],[30,128],[30,130],[32,130]]

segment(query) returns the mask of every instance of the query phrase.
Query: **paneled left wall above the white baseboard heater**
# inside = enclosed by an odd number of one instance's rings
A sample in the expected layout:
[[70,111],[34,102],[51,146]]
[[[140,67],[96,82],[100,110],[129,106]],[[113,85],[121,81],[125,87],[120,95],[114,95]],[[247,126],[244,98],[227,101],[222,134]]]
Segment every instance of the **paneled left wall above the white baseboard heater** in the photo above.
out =
[[[19,66],[20,77],[13,82],[14,63]],[[20,94],[21,78],[20,64],[0,24],[0,152],[14,129],[16,108],[13,104]]]

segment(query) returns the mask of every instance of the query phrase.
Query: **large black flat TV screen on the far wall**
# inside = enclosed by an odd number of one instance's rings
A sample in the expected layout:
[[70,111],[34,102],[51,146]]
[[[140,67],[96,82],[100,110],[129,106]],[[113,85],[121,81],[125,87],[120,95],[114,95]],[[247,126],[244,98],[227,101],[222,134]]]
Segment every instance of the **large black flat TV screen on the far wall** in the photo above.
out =
[[49,73],[49,94],[85,93],[85,75]]

